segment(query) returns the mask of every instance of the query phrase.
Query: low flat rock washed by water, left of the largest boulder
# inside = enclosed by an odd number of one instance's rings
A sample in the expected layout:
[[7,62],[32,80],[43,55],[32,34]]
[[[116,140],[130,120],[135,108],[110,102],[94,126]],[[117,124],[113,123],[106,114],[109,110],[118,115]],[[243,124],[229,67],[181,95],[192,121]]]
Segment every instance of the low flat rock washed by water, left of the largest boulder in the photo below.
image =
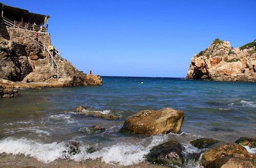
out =
[[117,120],[119,119],[118,116],[115,116],[111,113],[103,113],[103,111],[98,110],[87,110],[84,106],[79,106],[75,109],[75,113],[83,114],[84,116],[88,117],[96,117],[96,118],[103,118],[107,120]]

